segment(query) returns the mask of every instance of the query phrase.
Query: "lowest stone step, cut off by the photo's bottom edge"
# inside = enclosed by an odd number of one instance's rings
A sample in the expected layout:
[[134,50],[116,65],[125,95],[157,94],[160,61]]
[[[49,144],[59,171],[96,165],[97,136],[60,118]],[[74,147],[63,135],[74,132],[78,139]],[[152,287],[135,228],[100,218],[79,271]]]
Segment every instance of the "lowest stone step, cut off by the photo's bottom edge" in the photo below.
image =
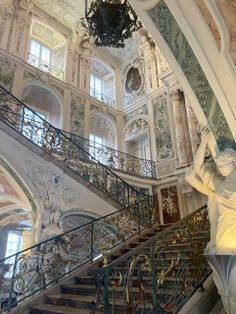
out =
[[39,304],[30,307],[30,314],[103,314],[102,311],[76,309],[54,304]]

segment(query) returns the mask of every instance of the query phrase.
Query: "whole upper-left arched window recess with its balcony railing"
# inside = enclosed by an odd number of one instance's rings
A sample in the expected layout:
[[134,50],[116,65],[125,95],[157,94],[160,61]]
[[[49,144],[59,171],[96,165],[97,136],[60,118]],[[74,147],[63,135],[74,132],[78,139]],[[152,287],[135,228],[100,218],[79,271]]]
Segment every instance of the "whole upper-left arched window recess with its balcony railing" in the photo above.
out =
[[28,62],[52,76],[64,80],[65,38],[39,21],[33,21],[30,30]]

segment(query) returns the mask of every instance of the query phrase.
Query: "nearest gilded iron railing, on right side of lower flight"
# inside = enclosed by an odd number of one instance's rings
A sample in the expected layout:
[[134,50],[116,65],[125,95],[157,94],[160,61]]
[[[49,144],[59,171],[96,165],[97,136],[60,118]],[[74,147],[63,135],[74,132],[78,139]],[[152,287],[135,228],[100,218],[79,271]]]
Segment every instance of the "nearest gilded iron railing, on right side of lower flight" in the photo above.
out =
[[204,206],[90,274],[96,307],[105,314],[179,313],[211,273],[203,251],[209,241]]

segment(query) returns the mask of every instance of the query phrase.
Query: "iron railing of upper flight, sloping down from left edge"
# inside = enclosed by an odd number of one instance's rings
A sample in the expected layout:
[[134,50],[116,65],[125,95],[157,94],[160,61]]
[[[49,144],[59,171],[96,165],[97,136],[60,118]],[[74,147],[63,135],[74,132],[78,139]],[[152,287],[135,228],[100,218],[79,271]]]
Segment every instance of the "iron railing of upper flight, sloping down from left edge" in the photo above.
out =
[[101,164],[80,146],[78,141],[74,142],[66,132],[53,127],[1,86],[0,121],[62,161],[65,166],[122,207],[147,197]]

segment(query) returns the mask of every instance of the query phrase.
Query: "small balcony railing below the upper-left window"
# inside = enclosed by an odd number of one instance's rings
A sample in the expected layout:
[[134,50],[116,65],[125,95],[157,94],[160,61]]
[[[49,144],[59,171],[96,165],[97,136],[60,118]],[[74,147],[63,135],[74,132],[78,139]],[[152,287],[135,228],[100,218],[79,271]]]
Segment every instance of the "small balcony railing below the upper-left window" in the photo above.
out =
[[64,80],[64,72],[62,70],[57,69],[53,65],[39,59],[38,57],[32,55],[30,52],[28,53],[28,63],[42,70],[43,72],[49,73],[59,80]]

